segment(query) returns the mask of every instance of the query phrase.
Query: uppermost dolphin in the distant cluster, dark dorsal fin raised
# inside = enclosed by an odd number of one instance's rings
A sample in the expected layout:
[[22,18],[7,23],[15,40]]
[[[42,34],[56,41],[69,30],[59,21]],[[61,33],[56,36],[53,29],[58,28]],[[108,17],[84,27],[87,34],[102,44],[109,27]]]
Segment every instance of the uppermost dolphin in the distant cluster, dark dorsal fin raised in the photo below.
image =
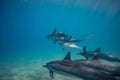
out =
[[48,34],[46,38],[49,39],[54,39],[57,37],[68,37],[67,34],[64,34],[63,32],[57,32],[56,28],[52,31],[52,33]]

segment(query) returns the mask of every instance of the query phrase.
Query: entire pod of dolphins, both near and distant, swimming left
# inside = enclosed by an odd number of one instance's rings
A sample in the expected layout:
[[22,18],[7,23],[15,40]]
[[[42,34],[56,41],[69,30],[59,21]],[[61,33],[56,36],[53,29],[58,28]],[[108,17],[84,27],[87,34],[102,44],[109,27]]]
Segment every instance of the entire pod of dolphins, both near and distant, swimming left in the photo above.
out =
[[[63,60],[55,60],[46,63],[43,67],[49,70],[51,78],[54,78],[54,73],[59,73],[62,75],[72,75],[84,80],[120,80],[120,65],[110,63],[120,62],[119,57],[102,53],[100,48],[87,51],[87,46],[81,48],[76,45],[76,43],[82,42],[83,40],[74,39],[64,32],[57,31],[56,28],[52,33],[48,34],[46,38],[62,46],[63,50],[65,48],[82,50],[82,52],[77,55],[85,57],[85,59],[72,60],[69,51]],[[107,60],[109,63],[102,60]]]

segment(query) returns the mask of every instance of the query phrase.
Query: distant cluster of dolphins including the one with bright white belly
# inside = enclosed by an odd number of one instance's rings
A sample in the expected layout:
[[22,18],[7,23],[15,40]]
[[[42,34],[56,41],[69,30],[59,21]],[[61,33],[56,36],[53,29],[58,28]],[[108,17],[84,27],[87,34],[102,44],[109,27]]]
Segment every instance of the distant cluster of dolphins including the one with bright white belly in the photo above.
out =
[[75,44],[78,42],[82,42],[81,39],[74,39],[68,34],[57,31],[56,28],[54,28],[52,33],[48,34],[46,38],[48,40],[52,40],[55,44],[59,44],[60,46],[62,46],[63,50],[65,50],[65,48],[73,48],[80,50],[82,49],[81,47]]

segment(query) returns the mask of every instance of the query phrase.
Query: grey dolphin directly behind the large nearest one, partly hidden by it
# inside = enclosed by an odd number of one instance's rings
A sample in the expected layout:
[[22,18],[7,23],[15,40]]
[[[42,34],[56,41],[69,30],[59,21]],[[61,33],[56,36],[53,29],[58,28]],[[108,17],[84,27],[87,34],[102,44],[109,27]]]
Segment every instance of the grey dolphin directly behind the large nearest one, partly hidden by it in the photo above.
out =
[[74,62],[120,76],[120,65],[100,61],[99,56],[99,53],[96,53],[91,60],[74,60]]

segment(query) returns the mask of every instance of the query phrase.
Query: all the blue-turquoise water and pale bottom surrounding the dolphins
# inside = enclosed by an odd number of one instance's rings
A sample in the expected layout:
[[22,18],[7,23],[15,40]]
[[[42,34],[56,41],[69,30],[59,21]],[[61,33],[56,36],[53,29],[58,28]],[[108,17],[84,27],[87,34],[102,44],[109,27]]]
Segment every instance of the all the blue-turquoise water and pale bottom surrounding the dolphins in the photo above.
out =
[[[71,50],[45,38],[55,27],[75,38],[92,35],[78,45],[120,57],[119,5],[119,0],[0,1],[0,80],[51,80],[42,65]],[[79,58],[79,50],[71,51]]]

